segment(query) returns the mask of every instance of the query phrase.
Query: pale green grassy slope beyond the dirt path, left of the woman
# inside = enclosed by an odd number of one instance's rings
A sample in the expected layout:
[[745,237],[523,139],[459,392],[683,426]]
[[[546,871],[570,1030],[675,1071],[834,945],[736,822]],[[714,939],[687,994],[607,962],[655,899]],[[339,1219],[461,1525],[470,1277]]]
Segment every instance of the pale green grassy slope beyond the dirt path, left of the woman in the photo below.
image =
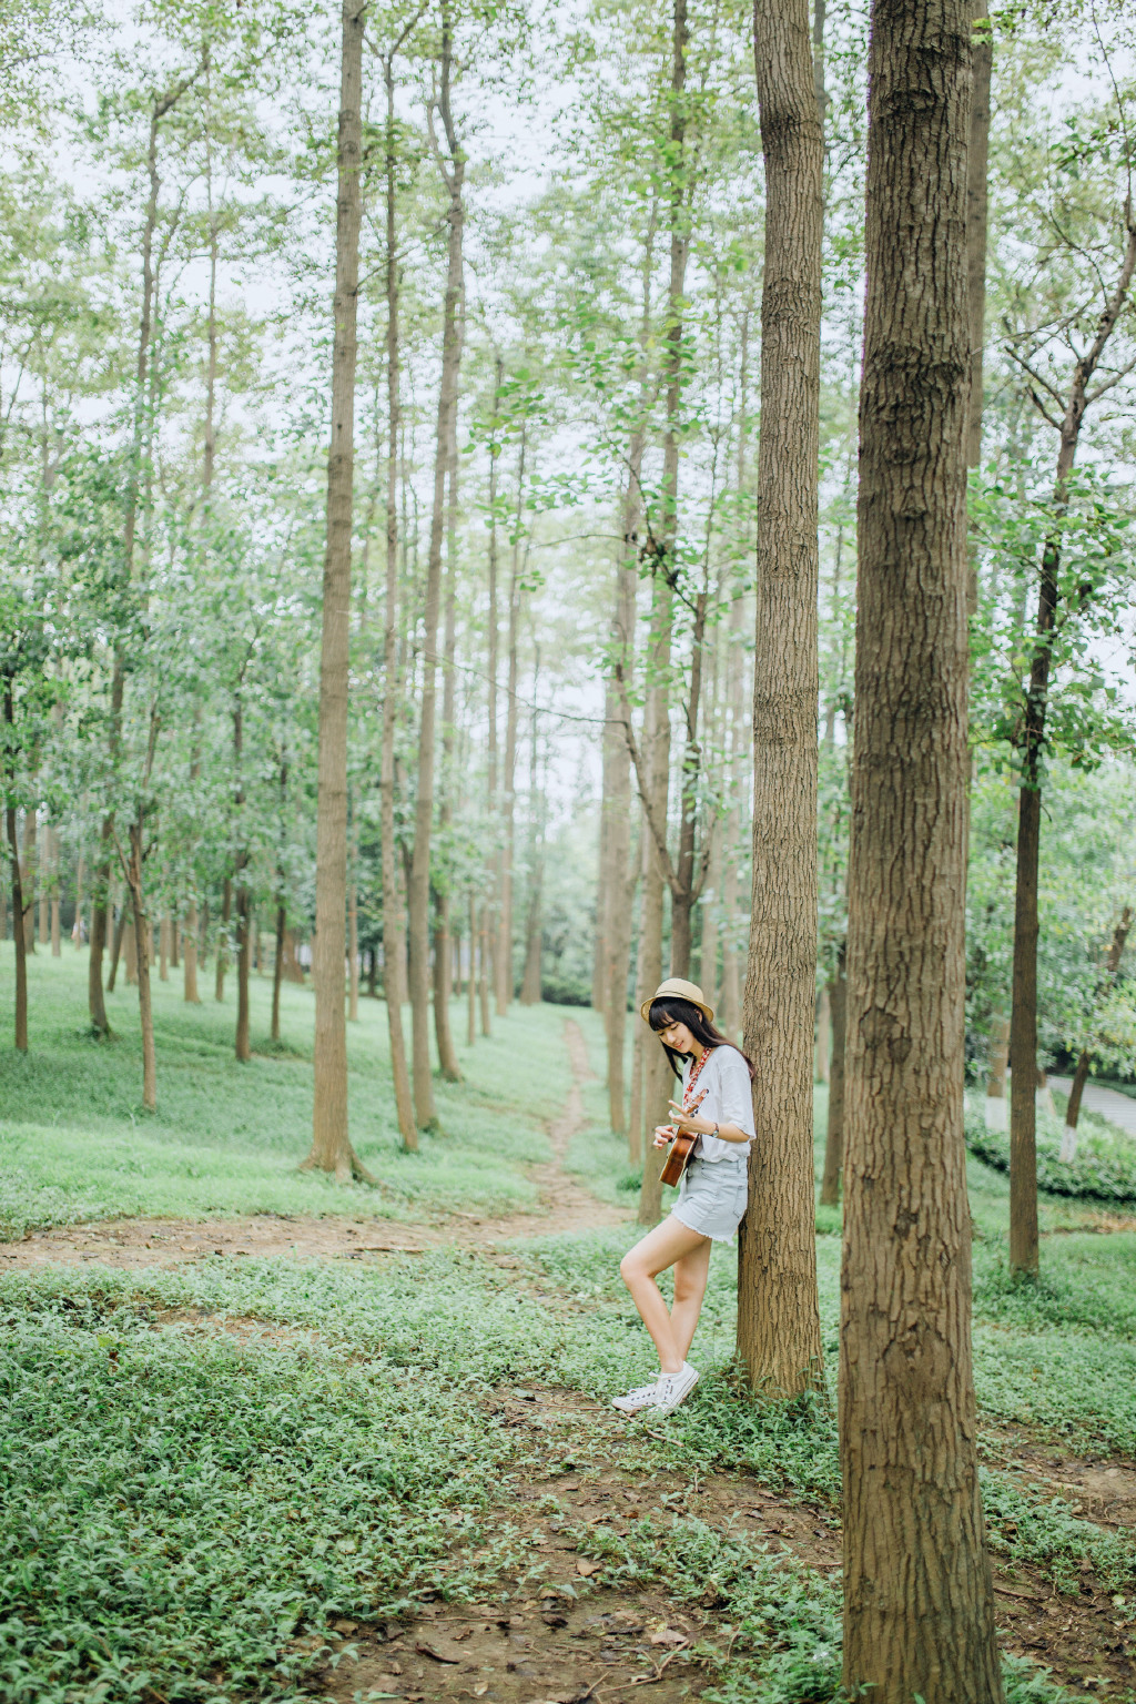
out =
[[[10,1021],[12,944],[0,944],[0,1026]],[[344,1195],[322,1174],[298,1172],[312,1130],[310,990],[286,985],[284,1051],[267,1051],[269,983],[252,982],[257,1056],[233,1058],[228,1004],[199,1007],[181,983],[155,982],[158,1111],[141,1109],[136,997],[119,983],[109,997],[116,1038],[87,1031],[85,959],[31,961],[31,1050],[0,1051],[0,1239],[29,1225],[118,1215],[334,1213]],[[204,978],[203,978],[204,980]],[[594,1014],[574,1014],[601,1029]],[[455,1002],[455,1019],[458,1017]],[[462,1033],[456,1021],[455,1031]],[[351,1212],[422,1218],[455,1208],[533,1206],[525,1166],[548,1157],[547,1120],[564,1106],[571,1068],[564,1012],[514,1007],[494,1038],[458,1046],[467,1080],[436,1080],[445,1135],[402,1150],[392,1113],[387,1010],[359,1002],[349,1026],[351,1133],[380,1189],[351,1191]],[[608,1138],[610,1142],[610,1138]]]

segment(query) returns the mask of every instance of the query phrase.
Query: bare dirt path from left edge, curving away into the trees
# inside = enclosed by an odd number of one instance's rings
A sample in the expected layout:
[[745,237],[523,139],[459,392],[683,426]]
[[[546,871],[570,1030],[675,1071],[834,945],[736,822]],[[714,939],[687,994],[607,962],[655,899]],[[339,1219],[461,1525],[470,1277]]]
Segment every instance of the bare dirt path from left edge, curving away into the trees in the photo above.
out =
[[22,1242],[0,1244],[0,1271],[24,1266],[181,1266],[211,1254],[233,1258],[295,1256],[296,1259],[368,1259],[382,1254],[421,1254],[427,1247],[480,1249],[511,1237],[625,1225],[628,1208],[598,1201],[564,1169],[569,1142],[584,1128],[581,1085],[593,1075],[584,1036],[572,1019],[564,1024],[572,1067],[564,1113],[548,1126],[552,1159],[530,1166],[540,1208],[526,1213],[451,1213],[433,1223],[387,1218],[252,1213],[237,1218],[111,1218],[92,1225],[34,1230]]

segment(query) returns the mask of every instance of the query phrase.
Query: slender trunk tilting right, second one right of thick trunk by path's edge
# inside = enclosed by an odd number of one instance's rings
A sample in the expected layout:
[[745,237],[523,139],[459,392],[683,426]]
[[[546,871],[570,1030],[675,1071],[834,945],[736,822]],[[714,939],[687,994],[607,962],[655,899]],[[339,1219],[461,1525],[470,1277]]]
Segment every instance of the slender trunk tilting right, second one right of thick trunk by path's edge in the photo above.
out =
[[453,20],[443,0],[441,12],[441,90],[439,112],[450,148],[450,167],[439,158],[448,191],[450,245],[446,264],[446,298],[441,332],[441,389],[438,394],[438,438],[434,452],[434,503],[429,527],[429,557],[426,562],[426,610],[422,620],[422,709],[419,719],[417,797],[414,804],[414,857],[410,862],[410,1028],[414,1051],[414,1109],[419,1125],[433,1130],[438,1125],[434,1084],[429,1060],[429,895],[431,895],[431,835],[434,826],[434,719],[438,705],[438,617],[441,605],[441,544],[446,521],[446,467],[450,462],[450,421],[458,406],[458,365],[462,360],[462,332],[458,308],[462,305],[462,240],[465,232],[465,152],[458,145],[450,109],[450,78],[453,70]]

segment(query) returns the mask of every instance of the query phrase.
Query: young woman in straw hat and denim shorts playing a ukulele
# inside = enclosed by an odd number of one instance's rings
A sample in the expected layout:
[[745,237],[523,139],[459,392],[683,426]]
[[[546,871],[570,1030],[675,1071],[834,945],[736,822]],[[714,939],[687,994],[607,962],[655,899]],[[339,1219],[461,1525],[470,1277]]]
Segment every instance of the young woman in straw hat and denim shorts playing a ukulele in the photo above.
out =
[[[671,1123],[656,1128],[654,1145],[669,1147],[680,1130],[697,1131],[698,1142],[671,1215],[620,1263],[620,1276],[659,1351],[659,1377],[617,1396],[613,1406],[623,1414],[645,1408],[669,1414],[698,1384],[686,1351],[702,1312],[710,1247],[731,1242],[746,1212],[753,1065],[714,1028],[714,1007],[693,982],[671,976],[644,1000],[642,1016],[683,1084],[681,1101],[669,1102]],[[656,1283],[668,1266],[674,1268],[669,1312]]]

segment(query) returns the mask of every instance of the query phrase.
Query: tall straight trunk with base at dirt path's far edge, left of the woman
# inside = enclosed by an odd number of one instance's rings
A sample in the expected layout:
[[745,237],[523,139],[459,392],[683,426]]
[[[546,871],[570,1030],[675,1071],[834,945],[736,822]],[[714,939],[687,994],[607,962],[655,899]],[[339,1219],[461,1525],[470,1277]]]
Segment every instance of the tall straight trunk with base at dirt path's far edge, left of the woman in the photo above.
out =
[[332,441],[327,457],[327,549],[320,646],[320,753],[315,838],[315,1109],[305,1167],[341,1183],[370,1174],[347,1135],[344,954],[347,903],[347,675],[351,653],[351,498],[354,363],[363,198],[363,0],[344,0],[339,80],[339,204],[332,348]]

